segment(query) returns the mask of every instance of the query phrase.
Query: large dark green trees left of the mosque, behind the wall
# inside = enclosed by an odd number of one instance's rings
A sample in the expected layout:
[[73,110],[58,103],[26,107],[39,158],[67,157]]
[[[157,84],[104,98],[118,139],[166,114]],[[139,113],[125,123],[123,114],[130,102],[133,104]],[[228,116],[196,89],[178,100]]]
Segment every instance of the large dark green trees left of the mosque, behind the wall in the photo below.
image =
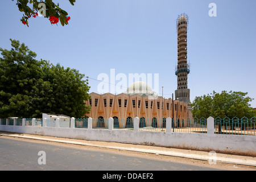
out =
[[[11,40],[11,39],[10,39]],[[36,60],[24,43],[0,48],[0,117],[42,117],[42,113],[83,117],[90,106],[88,80],[76,69]]]

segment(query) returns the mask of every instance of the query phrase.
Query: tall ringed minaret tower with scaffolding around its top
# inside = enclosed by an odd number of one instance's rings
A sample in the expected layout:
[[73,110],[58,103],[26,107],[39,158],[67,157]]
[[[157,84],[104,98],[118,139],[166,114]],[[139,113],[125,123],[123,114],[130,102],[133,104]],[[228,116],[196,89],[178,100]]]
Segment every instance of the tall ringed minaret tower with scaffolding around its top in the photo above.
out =
[[188,16],[181,14],[177,18],[177,90],[175,90],[175,99],[190,102],[190,89],[188,89],[188,74],[190,72],[187,64],[187,30]]

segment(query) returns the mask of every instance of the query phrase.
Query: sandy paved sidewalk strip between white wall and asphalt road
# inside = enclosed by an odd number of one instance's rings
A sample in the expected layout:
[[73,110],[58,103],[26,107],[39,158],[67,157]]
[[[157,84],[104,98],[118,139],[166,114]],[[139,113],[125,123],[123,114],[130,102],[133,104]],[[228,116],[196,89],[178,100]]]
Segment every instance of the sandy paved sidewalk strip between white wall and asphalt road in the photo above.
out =
[[[15,133],[7,133],[2,131],[0,133],[0,136],[1,135],[6,137],[45,140],[49,142],[69,143],[69,144],[78,144],[78,145],[91,146],[91,147],[111,148],[115,150],[144,152],[144,153],[150,153],[150,154],[156,154],[156,155],[176,156],[176,157],[189,158],[189,159],[209,160],[212,157],[212,155],[209,155],[209,152],[183,150],[183,149],[177,149],[177,148],[144,146],[144,145],[138,145],[138,144],[125,144],[125,143],[116,143],[116,142],[89,141],[89,140],[79,140],[79,139],[69,139],[69,138],[57,138],[57,137],[47,137],[47,136],[30,135],[30,134],[15,134]],[[229,154],[217,153],[216,162],[241,164],[241,165],[256,167],[256,157],[253,157],[253,156],[240,156],[240,155],[229,155]]]

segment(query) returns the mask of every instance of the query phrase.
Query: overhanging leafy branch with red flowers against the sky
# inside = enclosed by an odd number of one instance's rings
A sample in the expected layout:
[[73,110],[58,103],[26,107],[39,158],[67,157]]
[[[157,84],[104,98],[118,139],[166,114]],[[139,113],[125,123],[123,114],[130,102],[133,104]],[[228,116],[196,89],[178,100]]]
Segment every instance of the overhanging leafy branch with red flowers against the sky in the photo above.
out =
[[[76,0],[68,1],[71,5],[74,5],[76,2]],[[36,18],[38,13],[42,14],[45,18],[48,18],[51,21],[51,24],[55,24],[60,20],[61,25],[64,26],[65,24],[68,24],[68,21],[71,19],[70,16],[68,16],[67,11],[61,9],[59,3],[56,4],[52,0],[17,0],[16,5],[18,6],[19,11],[24,13],[20,21],[23,24],[27,24],[27,26],[28,19],[32,16]]]

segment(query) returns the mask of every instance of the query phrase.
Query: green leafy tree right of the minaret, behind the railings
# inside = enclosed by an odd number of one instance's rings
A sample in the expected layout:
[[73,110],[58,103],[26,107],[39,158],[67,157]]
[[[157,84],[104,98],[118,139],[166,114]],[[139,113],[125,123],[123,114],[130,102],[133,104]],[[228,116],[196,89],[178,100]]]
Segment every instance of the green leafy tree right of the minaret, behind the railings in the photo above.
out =
[[233,117],[247,117],[255,116],[255,111],[250,107],[249,102],[253,98],[246,97],[247,93],[243,92],[227,92],[213,93],[196,97],[192,102],[192,114],[197,118],[233,118]]

